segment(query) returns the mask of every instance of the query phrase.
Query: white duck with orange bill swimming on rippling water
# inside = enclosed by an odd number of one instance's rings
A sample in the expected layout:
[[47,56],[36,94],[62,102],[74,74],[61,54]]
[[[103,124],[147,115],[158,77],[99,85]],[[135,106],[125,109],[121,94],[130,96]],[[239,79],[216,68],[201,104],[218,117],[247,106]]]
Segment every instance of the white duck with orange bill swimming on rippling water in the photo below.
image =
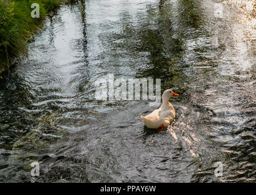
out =
[[174,121],[175,109],[172,104],[170,104],[169,99],[173,96],[178,96],[172,90],[164,91],[162,95],[162,105],[158,109],[154,110],[147,116],[141,116],[144,121],[145,126],[150,129],[159,129],[159,131],[164,129],[164,126],[169,126],[170,122]]

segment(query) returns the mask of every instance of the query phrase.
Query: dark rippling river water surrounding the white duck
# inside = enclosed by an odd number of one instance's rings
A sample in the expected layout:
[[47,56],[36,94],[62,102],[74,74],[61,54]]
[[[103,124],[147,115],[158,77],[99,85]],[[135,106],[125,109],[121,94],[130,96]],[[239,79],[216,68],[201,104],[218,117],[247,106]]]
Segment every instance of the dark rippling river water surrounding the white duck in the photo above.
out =
[[[255,20],[214,1],[62,5],[0,83],[1,182],[256,182]],[[171,126],[148,101],[97,101],[96,79],[158,78],[179,93]],[[29,166],[40,162],[40,176]],[[214,176],[214,163],[224,165]]]

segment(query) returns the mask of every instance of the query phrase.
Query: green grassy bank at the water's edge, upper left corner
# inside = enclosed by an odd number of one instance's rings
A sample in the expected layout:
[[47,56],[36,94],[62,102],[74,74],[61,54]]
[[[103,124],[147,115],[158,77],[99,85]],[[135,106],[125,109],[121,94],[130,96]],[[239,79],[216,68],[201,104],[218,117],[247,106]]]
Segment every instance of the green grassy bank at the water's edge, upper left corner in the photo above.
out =
[[[0,77],[13,59],[27,53],[26,41],[37,32],[46,13],[64,0],[0,0]],[[32,18],[31,4],[40,5],[40,17]]]

